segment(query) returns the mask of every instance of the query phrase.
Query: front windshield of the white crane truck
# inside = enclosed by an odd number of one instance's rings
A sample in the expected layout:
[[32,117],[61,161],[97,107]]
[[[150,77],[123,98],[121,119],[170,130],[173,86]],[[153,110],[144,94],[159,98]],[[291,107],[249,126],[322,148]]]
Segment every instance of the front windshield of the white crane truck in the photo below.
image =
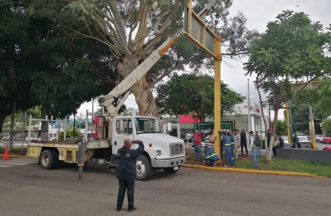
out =
[[161,133],[162,128],[159,119],[155,118],[134,118],[134,125],[138,134]]

